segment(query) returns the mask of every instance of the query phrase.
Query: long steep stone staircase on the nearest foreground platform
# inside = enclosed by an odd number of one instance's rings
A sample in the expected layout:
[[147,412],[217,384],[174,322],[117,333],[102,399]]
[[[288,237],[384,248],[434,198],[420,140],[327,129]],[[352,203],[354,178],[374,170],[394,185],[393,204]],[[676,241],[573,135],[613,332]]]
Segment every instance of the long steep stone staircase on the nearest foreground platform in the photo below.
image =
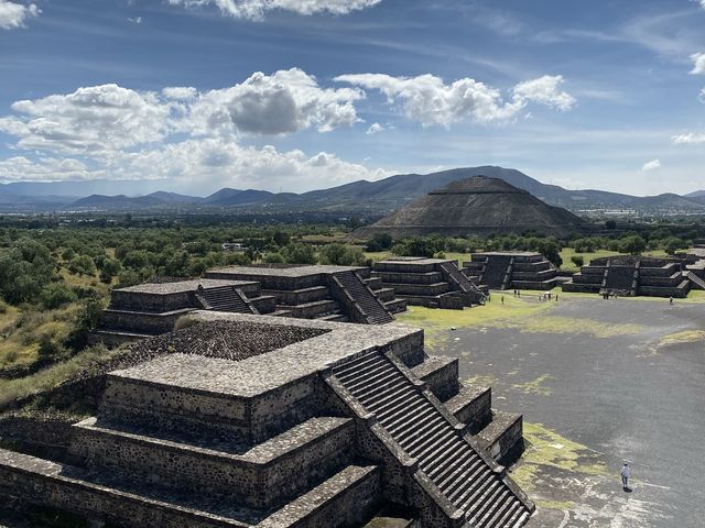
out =
[[419,461],[419,470],[468,526],[525,524],[531,512],[516,490],[390,359],[373,350],[334,367],[333,375]]

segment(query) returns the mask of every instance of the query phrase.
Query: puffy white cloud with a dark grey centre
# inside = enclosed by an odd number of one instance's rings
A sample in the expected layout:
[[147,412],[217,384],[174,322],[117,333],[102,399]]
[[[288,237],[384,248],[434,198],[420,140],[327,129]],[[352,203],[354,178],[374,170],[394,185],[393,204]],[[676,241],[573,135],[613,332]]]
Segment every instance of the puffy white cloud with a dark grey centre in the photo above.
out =
[[285,134],[310,127],[329,132],[358,120],[352,103],[364,97],[357,89],[321,88],[299,68],[258,72],[242,84],[203,94],[191,118],[197,133]]

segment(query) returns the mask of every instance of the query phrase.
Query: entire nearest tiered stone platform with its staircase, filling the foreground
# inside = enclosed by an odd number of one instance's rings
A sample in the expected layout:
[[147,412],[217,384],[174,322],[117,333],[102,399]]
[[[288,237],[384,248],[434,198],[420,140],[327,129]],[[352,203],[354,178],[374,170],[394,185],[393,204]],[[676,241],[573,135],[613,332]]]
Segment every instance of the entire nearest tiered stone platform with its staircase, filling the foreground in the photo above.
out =
[[[202,310],[155,339],[264,326],[275,342],[292,323]],[[110,373],[98,416],[74,426],[73,465],[0,450],[0,499],[121,527],[361,527],[384,505],[406,526],[528,521],[496,462],[521,447],[520,416],[462,386],[457,360],[402,324],[295,324],[301,340],[239,361],[178,345]]]

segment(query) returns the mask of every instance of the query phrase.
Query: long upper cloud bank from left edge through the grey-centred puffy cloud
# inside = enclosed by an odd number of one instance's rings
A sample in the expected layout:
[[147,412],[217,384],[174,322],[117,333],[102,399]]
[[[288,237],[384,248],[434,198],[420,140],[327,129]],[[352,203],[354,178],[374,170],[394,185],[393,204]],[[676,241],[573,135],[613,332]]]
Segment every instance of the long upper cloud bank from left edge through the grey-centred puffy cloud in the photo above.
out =
[[159,143],[175,133],[195,136],[278,135],[315,127],[328,132],[357,120],[352,88],[321,88],[313,76],[293,68],[199,94],[166,87],[161,94],[118,85],[77,89],[12,105],[0,131],[18,138],[17,147],[68,155],[108,155]]

